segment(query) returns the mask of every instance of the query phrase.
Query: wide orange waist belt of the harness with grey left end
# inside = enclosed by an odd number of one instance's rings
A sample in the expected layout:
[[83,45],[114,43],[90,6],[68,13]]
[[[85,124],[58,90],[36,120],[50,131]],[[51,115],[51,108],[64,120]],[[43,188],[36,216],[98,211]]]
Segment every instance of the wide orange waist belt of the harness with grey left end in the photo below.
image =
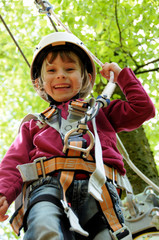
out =
[[[47,176],[55,171],[66,170],[76,171],[81,170],[87,173],[92,173],[95,170],[95,163],[91,155],[88,160],[84,160],[79,157],[53,157],[46,159],[38,158],[33,163],[27,163],[17,166],[21,173],[24,182],[35,181],[43,175]],[[28,171],[29,169],[29,171]],[[113,169],[104,164],[105,176],[115,182],[118,182],[118,173],[116,169]]]

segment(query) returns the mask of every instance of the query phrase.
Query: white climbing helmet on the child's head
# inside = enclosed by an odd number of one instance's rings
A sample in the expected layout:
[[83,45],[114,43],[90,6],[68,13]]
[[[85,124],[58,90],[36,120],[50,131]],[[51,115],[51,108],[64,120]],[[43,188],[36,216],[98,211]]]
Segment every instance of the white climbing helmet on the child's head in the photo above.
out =
[[89,54],[89,51],[87,50],[83,42],[72,33],[67,32],[51,33],[45,36],[36,47],[33,56],[33,61],[31,64],[31,80],[33,82],[35,90],[44,100],[48,101],[48,99],[44,95],[40,94],[40,92],[38,91],[37,89],[38,87],[35,84],[35,80],[41,74],[43,60],[46,58],[46,56],[51,50],[54,50],[54,48],[59,50],[67,49],[75,52],[78,55],[78,57],[82,60],[82,62],[86,65],[88,73],[91,73],[92,86],[94,85],[96,77],[95,64],[93,58]]

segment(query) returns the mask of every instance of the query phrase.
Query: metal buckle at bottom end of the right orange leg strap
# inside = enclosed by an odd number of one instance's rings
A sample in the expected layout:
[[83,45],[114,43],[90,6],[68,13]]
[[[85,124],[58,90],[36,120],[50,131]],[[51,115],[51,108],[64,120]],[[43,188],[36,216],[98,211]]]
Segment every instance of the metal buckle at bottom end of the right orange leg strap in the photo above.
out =
[[122,224],[122,228],[120,228],[119,230],[112,232],[110,230],[110,235],[112,237],[113,240],[132,240],[132,234],[129,230],[129,228],[125,225]]

